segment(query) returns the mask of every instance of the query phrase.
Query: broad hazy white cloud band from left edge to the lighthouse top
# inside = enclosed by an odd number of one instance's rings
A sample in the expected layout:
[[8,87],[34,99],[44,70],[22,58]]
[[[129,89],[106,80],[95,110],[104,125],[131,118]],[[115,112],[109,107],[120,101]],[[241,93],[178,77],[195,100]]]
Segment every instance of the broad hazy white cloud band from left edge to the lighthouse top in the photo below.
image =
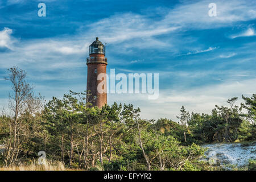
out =
[[23,41],[15,44],[14,51],[1,52],[0,67],[7,69],[16,65],[26,71],[39,69],[42,72],[79,68],[85,65],[88,46],[89,42],[77,38]]

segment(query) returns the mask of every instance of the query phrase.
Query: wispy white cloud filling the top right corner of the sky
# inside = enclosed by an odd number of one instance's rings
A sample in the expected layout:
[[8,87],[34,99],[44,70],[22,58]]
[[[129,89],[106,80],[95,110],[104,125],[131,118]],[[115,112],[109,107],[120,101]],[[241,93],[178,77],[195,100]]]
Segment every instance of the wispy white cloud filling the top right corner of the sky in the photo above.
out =
[[166,16],[165,22],[189,28],[218,28],[232,25],[234,22],[256,18],[256,3],[254,1],[221,1],[215,0],[217,16],[208,15],[209,3],[212,1],[191,1],[177,5]]

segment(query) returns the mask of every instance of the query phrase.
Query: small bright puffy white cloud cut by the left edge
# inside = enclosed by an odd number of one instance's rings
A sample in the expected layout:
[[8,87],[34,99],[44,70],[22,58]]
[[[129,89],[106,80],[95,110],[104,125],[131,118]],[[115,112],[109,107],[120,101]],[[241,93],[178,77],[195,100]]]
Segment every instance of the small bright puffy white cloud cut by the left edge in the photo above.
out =
[[12,33],[13,30],[10,28],[3,28],[3,30],[0,31],[0,48],[13,49],[14,39],[11,38]]

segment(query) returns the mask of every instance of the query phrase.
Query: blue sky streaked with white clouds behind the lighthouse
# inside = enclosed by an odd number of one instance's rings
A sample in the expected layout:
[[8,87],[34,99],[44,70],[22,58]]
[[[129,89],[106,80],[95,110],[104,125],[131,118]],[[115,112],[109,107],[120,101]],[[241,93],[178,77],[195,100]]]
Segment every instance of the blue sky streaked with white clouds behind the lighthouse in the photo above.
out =
[[[46,16],[38,16],[38,4]],[[216,16],[209,16],[210,3]],[[211,113],[256,91],[256,1],[0,0],[0,108],[7,69],[27,71],[50,100],[86,90],[88,47],[106,43],[107,73],[159,73],[159,97],[108,94],[108,104],[141,108],[146,119],[177,120],[180,107]]]

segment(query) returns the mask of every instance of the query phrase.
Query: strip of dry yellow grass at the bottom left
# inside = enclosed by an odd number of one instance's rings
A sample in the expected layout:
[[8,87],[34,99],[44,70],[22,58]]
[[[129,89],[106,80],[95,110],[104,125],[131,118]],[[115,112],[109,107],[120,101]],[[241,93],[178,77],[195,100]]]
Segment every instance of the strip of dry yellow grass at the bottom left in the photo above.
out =
[[9,167],[0,167],[0,171],[73,171],[76,169],[65,168],[62,162],[49,162],[38,164],[37,161],[30,164],[16,164]]

